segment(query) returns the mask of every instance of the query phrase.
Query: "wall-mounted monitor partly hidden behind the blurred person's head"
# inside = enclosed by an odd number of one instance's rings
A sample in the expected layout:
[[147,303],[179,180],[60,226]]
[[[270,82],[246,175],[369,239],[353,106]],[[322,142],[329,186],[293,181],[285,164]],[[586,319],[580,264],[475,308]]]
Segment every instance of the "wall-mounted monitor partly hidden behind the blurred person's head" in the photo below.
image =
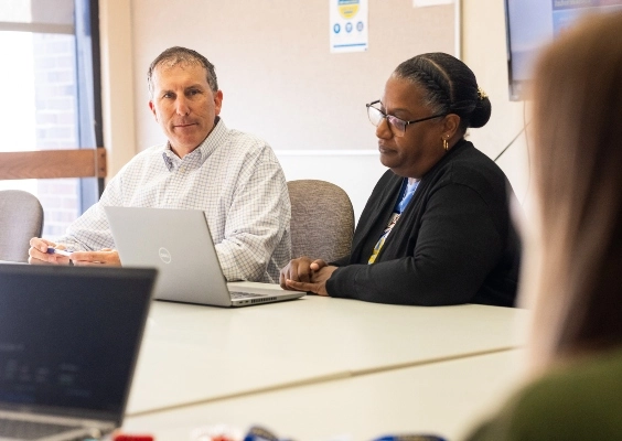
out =
[[622,0],[505,0],[510,99],[525,99],[544,45],[583,14],[616,10],[622,10]]

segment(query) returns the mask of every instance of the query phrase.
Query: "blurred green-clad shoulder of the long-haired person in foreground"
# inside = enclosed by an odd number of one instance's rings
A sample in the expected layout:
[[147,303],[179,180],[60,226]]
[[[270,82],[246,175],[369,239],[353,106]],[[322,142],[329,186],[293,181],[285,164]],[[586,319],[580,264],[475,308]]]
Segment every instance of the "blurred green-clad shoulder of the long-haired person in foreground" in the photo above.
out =
[[498,440],[621,439],[621,377],[620,349],[556,368],[524,387],[482,433]]

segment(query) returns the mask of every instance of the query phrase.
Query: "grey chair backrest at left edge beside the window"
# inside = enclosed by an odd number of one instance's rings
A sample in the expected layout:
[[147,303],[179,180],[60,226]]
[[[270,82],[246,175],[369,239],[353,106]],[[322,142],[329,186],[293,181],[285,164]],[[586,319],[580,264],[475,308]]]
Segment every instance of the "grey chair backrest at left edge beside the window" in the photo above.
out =
[[25,262],[30,239],[43,229],[43,207],[33,194],[0,191],[0,260]]

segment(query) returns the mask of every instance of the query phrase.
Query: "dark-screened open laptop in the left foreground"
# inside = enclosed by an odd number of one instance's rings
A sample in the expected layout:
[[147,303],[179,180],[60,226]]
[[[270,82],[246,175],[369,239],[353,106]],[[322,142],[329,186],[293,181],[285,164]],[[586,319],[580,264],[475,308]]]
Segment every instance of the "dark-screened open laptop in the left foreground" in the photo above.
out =
[[156,273],[0,265],[0,440],[121,426]]

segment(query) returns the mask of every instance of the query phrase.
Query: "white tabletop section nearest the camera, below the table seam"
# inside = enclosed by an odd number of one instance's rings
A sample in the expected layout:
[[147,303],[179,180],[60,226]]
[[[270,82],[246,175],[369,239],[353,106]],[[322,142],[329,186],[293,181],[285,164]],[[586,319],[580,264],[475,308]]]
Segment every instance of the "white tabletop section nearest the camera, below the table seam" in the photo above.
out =
[[202,427],[260,424],[299,441],[366,441],[435,433],[460,440],[493,412],[522,378],[523,349],[272,390],[129,417],[124,431],[157,441],[194,440]]

